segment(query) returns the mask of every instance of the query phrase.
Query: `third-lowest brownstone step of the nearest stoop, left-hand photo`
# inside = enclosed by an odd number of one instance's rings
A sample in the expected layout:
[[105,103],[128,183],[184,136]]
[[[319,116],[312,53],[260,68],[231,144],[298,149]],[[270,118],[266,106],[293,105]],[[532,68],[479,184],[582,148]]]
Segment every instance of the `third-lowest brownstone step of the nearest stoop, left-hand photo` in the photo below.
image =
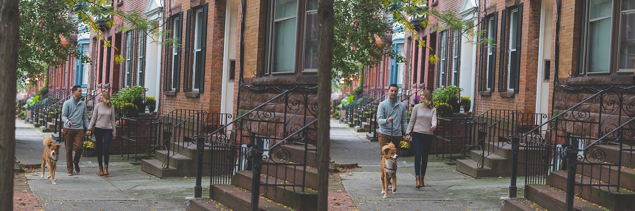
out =
[[[251,191],[251,181],[253,171],[239,171],[232,177],[232,184],[240,188]],[[301,182],[301,181],[300,181]],[[303,188],[294,185],[292,182],[278,179],[272,176],[260,176],[261,184],[280,184],[279,186],[260,186],[260,194],[283,205],[293,208],[293,210],[317,210],[318,192],[313,189]]]

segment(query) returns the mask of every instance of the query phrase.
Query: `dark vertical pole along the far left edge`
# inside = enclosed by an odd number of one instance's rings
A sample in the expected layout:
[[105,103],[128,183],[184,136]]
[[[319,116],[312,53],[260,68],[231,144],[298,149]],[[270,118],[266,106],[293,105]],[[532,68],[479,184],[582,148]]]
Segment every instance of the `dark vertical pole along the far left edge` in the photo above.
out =
[[0,0],[0,210],[13,210],[18,0]]

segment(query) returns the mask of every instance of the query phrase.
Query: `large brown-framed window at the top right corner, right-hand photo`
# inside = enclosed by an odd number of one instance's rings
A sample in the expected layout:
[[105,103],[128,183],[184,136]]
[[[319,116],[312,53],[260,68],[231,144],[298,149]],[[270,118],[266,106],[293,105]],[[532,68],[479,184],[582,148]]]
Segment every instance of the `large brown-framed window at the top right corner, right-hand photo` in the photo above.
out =
[[635,1],[585,0],[580,74],[635,70]]

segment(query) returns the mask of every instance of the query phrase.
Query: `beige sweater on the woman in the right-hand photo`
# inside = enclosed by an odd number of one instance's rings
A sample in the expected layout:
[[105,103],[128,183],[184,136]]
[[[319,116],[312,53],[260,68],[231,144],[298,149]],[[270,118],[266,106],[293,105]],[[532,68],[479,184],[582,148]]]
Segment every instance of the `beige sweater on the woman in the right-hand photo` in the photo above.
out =
[[415,108],[412,108],[412,115],[410,116],[406,134],[411,135],[411,132],[433,134],[432,131],[430,131],[432,125],[436,127],[436,108],[427,108],[421,103],[418,103],[415,105]]

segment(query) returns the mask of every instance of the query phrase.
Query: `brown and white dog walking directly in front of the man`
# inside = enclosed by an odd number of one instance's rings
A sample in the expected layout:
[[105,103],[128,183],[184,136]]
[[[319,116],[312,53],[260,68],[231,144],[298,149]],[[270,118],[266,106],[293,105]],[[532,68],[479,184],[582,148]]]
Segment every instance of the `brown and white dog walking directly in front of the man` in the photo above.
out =
[[392,143],[382,147],[382,193],[388,198],[388,182],[392,179],[392,194],[397,193],[397,148]]

